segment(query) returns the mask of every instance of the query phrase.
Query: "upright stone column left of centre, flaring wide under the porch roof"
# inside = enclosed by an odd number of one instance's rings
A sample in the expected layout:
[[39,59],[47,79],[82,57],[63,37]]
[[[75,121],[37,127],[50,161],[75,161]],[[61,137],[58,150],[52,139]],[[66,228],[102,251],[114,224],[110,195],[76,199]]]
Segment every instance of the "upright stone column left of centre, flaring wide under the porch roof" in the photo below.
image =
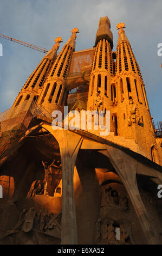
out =
[[50,125],[42,125],[57,140],[60,147],[62,164],[62,245],[77,244],[77,226],[73,174],[77,153],[81,147],[82,137],[69,130],[53,130]]

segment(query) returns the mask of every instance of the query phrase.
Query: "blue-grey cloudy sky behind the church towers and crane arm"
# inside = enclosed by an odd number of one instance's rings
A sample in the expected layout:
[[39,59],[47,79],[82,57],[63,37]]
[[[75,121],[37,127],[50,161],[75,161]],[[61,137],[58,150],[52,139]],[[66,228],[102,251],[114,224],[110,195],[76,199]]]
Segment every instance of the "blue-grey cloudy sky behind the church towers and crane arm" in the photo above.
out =
[[[73,27],[80,30],[76,51],[92,47],[99,19],[107,15],[111,20],[115,51],[118,40],[115,26],[125,22],[126,35],[146,85],[151,114],[155,121],[162,120],[162,57],[157,55],[157,45],[162,42],[161,0],[0,0],[0,4],[1,34],[49,49],[56,36],[62,36],[66,42]],[[12,106],[44,54],[2,38],[0,43],[3,45],[1,113]]]

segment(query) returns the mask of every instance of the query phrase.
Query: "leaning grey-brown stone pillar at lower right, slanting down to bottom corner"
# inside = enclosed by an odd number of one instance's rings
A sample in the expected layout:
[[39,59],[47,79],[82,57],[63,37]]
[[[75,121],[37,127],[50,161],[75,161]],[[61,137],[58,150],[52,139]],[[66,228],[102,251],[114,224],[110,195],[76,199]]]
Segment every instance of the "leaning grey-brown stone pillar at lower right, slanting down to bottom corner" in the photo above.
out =
[[127,155],[120,149],[116,149],[108,145],[106,145],[106,148],[107,151],[103,154],[109,157],[109,160],[112,162],[128,192],[134,206],[134,210],[139,219],[141,229],[144,233],[145,240],[147,241],[148,245],[160,244],[158,235],[155,233],[155,230],[152,227],[150,218],[138,190],[136,179],[137,160],[133,159],[133,157]]

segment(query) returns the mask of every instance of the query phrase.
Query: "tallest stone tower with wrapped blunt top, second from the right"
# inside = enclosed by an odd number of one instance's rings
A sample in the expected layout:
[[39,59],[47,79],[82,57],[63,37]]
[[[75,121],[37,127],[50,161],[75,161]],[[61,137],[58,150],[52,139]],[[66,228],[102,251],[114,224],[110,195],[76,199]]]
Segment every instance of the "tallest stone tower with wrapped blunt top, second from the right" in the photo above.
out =
[[[100,18],[95,46],[96,50],[89,81],[87,110],[102,110],[105,112],[109,111],[112,106],[111,80],[114,74],[112,57],[113,35],[111,22],[107,16]],[[112,119],[110,127],[111,132],[114,132],[115,128]]]

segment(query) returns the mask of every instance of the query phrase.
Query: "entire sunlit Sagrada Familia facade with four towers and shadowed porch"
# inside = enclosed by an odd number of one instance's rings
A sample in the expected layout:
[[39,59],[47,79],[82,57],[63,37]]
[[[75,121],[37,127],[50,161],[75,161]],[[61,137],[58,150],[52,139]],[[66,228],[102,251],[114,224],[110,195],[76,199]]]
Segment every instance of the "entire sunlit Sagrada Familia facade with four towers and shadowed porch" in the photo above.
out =
[[[58,54],[57,37],[1,114],[0,244],[162,243],[161,138],[125,24],[116,27],[116,51],[107,16],[92,48],[75,51],[74,28]],[[68,129],[70,111],[103,121],[109,111],[109,133]]]

